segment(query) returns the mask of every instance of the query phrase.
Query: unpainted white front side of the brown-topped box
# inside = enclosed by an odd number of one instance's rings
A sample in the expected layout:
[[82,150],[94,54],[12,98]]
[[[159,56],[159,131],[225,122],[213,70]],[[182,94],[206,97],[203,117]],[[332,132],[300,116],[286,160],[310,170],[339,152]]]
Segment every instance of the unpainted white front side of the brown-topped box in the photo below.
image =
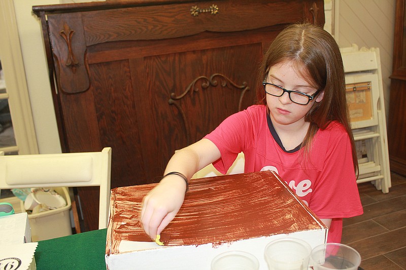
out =
[[[240,240],[224,243],[213,247],[212,244],[198,246],[163,246],[155,243],[126,242],[120,243],[120,253],[106,255],[109,270],[125,269],[128,265],[137,265],[137,269],[159,270],[165,269],[210,269],[213,258],[223,252],[231,250],[246,251],[253,254],[259,261],[259,269],[266,270],[264,258],[265,246],[281,238],[298,238],[310,244],[312,249],[324,244],[327,239],[327,228],[305,230],[291,234],[273,235],[255,239]],[[146,249],[150,244],[151,249]]]

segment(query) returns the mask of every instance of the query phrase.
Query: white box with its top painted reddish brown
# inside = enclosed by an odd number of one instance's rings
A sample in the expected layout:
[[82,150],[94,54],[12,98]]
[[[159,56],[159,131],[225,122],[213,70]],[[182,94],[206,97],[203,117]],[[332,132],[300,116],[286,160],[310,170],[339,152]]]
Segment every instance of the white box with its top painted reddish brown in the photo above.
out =
[[326,243],[327,227],[270,171],[190,180],[185,201],[161,233],[158,246],[144,232],[142,199],[156,184],[112,189],[106,264],[110,270],[210,269],[225,251],[246,251],[266,269],[266,244],[299,238],[311,247]]

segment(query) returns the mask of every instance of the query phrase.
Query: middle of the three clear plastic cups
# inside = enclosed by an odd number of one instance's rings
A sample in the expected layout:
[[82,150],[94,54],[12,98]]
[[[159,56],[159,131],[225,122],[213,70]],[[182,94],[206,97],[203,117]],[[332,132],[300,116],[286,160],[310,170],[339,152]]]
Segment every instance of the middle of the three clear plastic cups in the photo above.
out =
[[303,240],[283,238],[265,247],[265,260],[269,270],[308,270],[312,248]]

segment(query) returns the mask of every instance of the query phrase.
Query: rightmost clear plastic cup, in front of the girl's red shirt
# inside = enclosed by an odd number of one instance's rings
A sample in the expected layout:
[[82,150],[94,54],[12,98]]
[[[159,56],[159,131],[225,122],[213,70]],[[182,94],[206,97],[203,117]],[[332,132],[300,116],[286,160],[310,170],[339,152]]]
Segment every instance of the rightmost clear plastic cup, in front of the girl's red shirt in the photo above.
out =
[[361,263],[358,251],[339,243],[319,245],[312,250],[311,264],[314,270],[357,270]]

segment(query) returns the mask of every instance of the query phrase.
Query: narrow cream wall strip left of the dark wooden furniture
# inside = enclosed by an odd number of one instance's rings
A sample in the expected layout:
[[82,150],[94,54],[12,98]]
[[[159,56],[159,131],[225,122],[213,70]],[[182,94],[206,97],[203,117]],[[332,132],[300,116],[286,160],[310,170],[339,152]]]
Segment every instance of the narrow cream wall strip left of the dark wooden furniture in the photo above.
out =
[[32,14],[32,6],[52,4],[59,4],[59,0],[14,0],[32,118],[40,153],[61,152],[41,23]]

